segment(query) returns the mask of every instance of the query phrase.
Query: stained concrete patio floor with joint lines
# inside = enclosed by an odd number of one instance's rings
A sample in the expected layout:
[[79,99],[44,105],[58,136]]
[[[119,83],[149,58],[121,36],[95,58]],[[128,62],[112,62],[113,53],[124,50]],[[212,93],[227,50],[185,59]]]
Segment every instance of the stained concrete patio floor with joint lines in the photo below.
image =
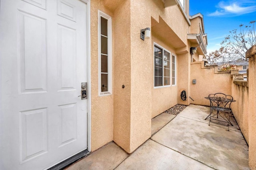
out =
[[162,113],[152,119],[154,135],[132,154],[111,142],[66,170],[249,169],[248,146],[235,119],[230,131],[216,123],[209,126],[204,120],[209,110],[190,105],[176,117]]

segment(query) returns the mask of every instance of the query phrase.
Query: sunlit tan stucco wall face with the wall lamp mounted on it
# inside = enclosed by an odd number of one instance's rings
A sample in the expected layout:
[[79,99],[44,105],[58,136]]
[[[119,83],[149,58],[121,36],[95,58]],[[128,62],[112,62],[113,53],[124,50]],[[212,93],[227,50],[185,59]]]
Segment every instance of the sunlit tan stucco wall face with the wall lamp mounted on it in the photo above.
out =
[[148,0],[131,0],[130,152],[151,136],[152,46],[150,39],[140,39],[140,29],[151,25],[149,8]]

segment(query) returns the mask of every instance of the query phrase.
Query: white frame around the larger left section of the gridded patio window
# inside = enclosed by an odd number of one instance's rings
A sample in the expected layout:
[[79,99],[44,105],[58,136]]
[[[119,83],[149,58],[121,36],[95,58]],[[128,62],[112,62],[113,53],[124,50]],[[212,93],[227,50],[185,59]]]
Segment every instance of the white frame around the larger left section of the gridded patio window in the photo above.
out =
[[[155,48],[155,46],[157,46],[157,47],[159,47],[159,48],[161,48],[162,49],[162,63],[163,63],[163,66],[162,66],[162,86],[155,86],[155,50],[153,50],[153,70],[154,70],[154,76],[153,76],[153,84],[154,84],[154,88],[165,88],[165,87],[171,87],[172,86],[172,79],[171,79],[171,77],[172,77],[172,72],[171,72],[171,70],[172,70],[172,53],[169,51],[169,50],[167,50],[167,49],[165,49],[164,47],[162,47],[161,45],[159,45],[159,44],[157,44],[157,43],[155,43],[154,42],[154,46],[153,46],[153,48]],[[164,85],[164,51],[166,51],[166,52],[168,52],[168,53],[170,53],[170,70],[169,70],[169,72],[170,72],[170,85]]]

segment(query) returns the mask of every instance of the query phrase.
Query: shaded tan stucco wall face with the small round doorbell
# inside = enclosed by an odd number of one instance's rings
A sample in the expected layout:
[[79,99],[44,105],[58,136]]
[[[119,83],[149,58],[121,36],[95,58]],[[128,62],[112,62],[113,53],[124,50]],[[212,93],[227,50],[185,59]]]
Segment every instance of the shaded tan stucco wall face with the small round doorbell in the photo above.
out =
[[[130,152],[131,131],[131,31],[130,1],[114,11],[114,141]],[[122,88],[122,85],[125,87]]]

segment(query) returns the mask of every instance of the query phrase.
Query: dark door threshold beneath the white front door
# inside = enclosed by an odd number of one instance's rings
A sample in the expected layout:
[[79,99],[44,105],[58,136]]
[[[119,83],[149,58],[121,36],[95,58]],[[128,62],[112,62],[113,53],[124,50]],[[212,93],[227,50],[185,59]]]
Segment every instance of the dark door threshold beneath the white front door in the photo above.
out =
[[82,152],[64,160],[63,162],[60,162],[59,164],[53,166],[52,168],[49,168],[48,170],[63,170],[64,168],[66,168],[70,164],[73,164],[74,162],[78,161],[80,158],[88,155],[89,153],[90,152],[87,149],[83,150]]

